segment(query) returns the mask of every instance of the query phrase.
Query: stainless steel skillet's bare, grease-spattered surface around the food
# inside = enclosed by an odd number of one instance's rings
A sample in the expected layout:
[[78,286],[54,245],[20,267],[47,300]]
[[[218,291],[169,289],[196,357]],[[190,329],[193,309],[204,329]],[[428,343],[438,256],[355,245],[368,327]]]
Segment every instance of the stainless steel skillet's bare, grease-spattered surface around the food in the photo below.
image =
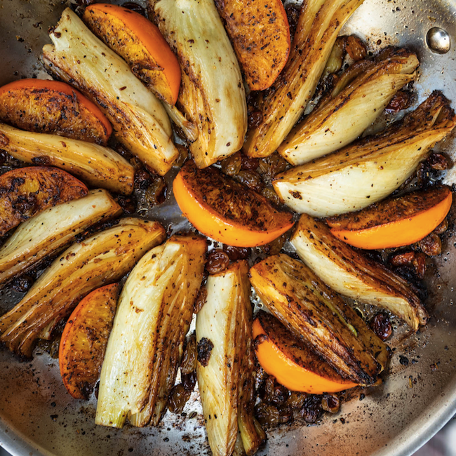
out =
[[[47,29],[67,6],[63,0],[0,0],[0,84],[40,76],[39,53]],[[456,1],[366,0],[344,29],[365,38],[372,48],[407,45],[417,51],[421,76],[415,84],[422,100],[440,89],[456,107]],[[453,46],[433,53],[425,37],[441,27]],[[380,42],[381,41],[381,42]],[[378,43],[378,44],[377,44]],[[455,141],[443,149],[455,157]],[[456,182],[450,170],[448,182]],[[184,227],[173,199],[142,213]],[[453,220],[455,215],[453,214]],[[338,415],[317,426],[269,431],[260,455],[410,455],[456,412],[456,236],[449,236],[436,269],[429,271],[427,328],[398,344],[391,374],[366,398],[345,403]],[[18,295],[0,294],[0,311]],[[399,356],[408,359],[401,364]],[[362,396],[361,396],[362,397]],[[186,417],[166,415],[156,429],[95,427],[94,402],[74,401],[60,381],[58,362],[47,354],[20,363],[0,351],[0,444],[13,455],[204,455],[210,454],[196,395]]]

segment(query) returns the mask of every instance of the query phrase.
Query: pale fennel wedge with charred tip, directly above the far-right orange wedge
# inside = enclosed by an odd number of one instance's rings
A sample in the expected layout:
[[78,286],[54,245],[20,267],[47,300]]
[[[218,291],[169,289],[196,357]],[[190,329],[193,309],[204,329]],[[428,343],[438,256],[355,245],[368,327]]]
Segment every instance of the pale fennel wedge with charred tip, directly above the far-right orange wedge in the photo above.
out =
[[274,189],[295,212],[314,217],[365,208],[405,182],[455,125],[450,102],[434,92],[384,132],[279,174]]

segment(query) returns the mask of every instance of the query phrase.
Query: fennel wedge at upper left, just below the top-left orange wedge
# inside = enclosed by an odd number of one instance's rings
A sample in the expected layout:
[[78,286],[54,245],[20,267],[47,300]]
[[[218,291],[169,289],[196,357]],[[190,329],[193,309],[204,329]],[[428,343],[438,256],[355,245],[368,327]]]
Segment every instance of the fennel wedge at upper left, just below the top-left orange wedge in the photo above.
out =
[[46,67],[95,101],[116,138],[145,165],[165,175],[179,152],[161,102],[69,8],[50,36],[53,46],[43,47]]

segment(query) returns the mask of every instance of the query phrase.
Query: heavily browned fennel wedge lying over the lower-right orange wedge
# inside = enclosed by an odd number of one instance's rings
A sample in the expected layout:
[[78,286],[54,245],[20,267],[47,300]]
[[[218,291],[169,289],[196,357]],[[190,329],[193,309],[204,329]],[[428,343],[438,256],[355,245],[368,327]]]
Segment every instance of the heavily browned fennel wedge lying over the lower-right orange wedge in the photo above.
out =
[[375,384],[387,346],[305,264],[274,255],[250,268],[250,283],[271,314],[342,377]]

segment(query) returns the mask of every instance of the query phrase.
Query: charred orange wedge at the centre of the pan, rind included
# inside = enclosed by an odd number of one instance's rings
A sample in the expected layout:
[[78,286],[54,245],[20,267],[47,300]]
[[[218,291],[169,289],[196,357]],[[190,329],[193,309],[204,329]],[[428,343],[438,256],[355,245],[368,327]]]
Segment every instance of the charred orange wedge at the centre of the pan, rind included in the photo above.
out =
[[193,161],[177,174],[173,191],[196,229],[229,246],[262,246],[293,227],[291,213],[277,210],[264,196],[215,168],[196,168]]

